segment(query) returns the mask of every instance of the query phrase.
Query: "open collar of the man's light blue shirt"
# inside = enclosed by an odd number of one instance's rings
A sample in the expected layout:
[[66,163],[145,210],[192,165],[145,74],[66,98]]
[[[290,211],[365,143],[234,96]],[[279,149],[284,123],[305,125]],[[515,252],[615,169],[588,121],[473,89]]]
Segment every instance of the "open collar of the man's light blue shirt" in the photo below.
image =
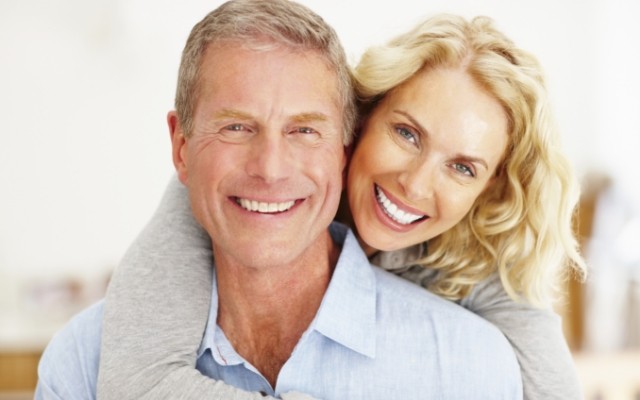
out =
[[[342,245],[342,251],[327,292],[308,331],[316,330],[353,351],[373,358],[376,348],[376,279],[373,268],[350,229],[334,222],[329,231],[333,240]],[[198,358],[207,349],[212,349],[218,362],[222,357],[223,364],[241,363],[242,359],[235,355],[233,349],[221,347],[222,342],[228,341],[216,340],[216,335],[224,335],[217,327],[217,318],[218,291],[214,273],[209,320],[198,350]],[[217,351],[214,351],[216,348]]]

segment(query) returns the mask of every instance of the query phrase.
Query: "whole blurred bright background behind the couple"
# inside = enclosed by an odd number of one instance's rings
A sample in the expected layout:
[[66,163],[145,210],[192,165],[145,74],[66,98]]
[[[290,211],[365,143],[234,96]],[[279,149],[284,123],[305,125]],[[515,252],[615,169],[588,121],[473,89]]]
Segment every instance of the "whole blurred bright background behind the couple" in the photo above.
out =
[[[538,56],[594,210],[584,216],[591,277],[564,311],[580,328],[570,341],[576,352],[637,346],[640,3],[301,2],[336,28],[353,62],[437,12],[491,16]],[[102,296],[173,173],[165,116],[180,52],[220,3],[0,2],[0,352],[37,357],[72,313]],[[16,362],[5,377],[34,361]]]

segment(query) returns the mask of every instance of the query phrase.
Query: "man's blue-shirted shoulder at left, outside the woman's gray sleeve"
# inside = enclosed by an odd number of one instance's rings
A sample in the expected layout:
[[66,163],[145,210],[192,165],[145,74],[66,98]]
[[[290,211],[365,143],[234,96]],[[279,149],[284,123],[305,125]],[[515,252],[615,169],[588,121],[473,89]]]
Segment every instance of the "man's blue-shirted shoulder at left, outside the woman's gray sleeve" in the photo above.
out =
[[94,399],[104,301],[74,316],[51,339],[38,365],[36,399]]

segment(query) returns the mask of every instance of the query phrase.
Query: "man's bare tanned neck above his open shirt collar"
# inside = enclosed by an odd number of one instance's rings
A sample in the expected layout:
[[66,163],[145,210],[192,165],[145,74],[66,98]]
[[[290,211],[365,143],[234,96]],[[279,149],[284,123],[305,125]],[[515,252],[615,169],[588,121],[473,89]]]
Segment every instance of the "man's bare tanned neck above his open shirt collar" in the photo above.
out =
[[272,387],[315,317],[339,254],[327,232],[287,265],[253,268],[216,258],[218,325]]

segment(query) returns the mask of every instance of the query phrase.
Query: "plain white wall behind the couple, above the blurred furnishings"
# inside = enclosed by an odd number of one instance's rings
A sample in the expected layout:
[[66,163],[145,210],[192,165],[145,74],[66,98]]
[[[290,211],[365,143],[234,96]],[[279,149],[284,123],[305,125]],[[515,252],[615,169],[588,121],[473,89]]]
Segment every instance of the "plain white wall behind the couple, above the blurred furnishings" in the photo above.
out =
[[[636,1],[302,2],[354,60],[430,13],[494,17],[546,67],[578,171],[637,180]],[[181,47],[219,3],[0,3],[0,280],[117,264],[173,171],[165,115]]]

